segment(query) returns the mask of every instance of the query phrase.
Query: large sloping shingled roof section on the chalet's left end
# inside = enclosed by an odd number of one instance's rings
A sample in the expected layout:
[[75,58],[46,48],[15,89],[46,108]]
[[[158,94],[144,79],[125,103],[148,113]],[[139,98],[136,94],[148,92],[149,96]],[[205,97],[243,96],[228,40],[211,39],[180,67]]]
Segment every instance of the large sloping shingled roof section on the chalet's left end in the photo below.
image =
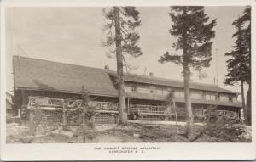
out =
[[82,91],[117,96],[108,73],[102,69],[14,56],[15,88],[56,92]]

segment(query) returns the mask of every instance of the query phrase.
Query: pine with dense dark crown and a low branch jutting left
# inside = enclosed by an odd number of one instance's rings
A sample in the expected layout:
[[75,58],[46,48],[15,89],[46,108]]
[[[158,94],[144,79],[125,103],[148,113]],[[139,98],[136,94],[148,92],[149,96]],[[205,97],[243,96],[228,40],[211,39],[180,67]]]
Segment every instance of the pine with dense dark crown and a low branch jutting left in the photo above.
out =
[[212,38],[215,31],[212,28],[216,20],[207,23],[209,17],[201,6],[171,7],[170,17],[172,28],[170,34],[177,38],[172,47],[176,51],[182,50],[182,54],[170,54],[166,52],[160,57],[160,63],[174,62],[183,65],[183,80],[185,94],[185,108],[187,109],[187,137],[191,134],[193,114],[189,91],[191,70],[201,71],[203,67],[210,66],[212,60]]

